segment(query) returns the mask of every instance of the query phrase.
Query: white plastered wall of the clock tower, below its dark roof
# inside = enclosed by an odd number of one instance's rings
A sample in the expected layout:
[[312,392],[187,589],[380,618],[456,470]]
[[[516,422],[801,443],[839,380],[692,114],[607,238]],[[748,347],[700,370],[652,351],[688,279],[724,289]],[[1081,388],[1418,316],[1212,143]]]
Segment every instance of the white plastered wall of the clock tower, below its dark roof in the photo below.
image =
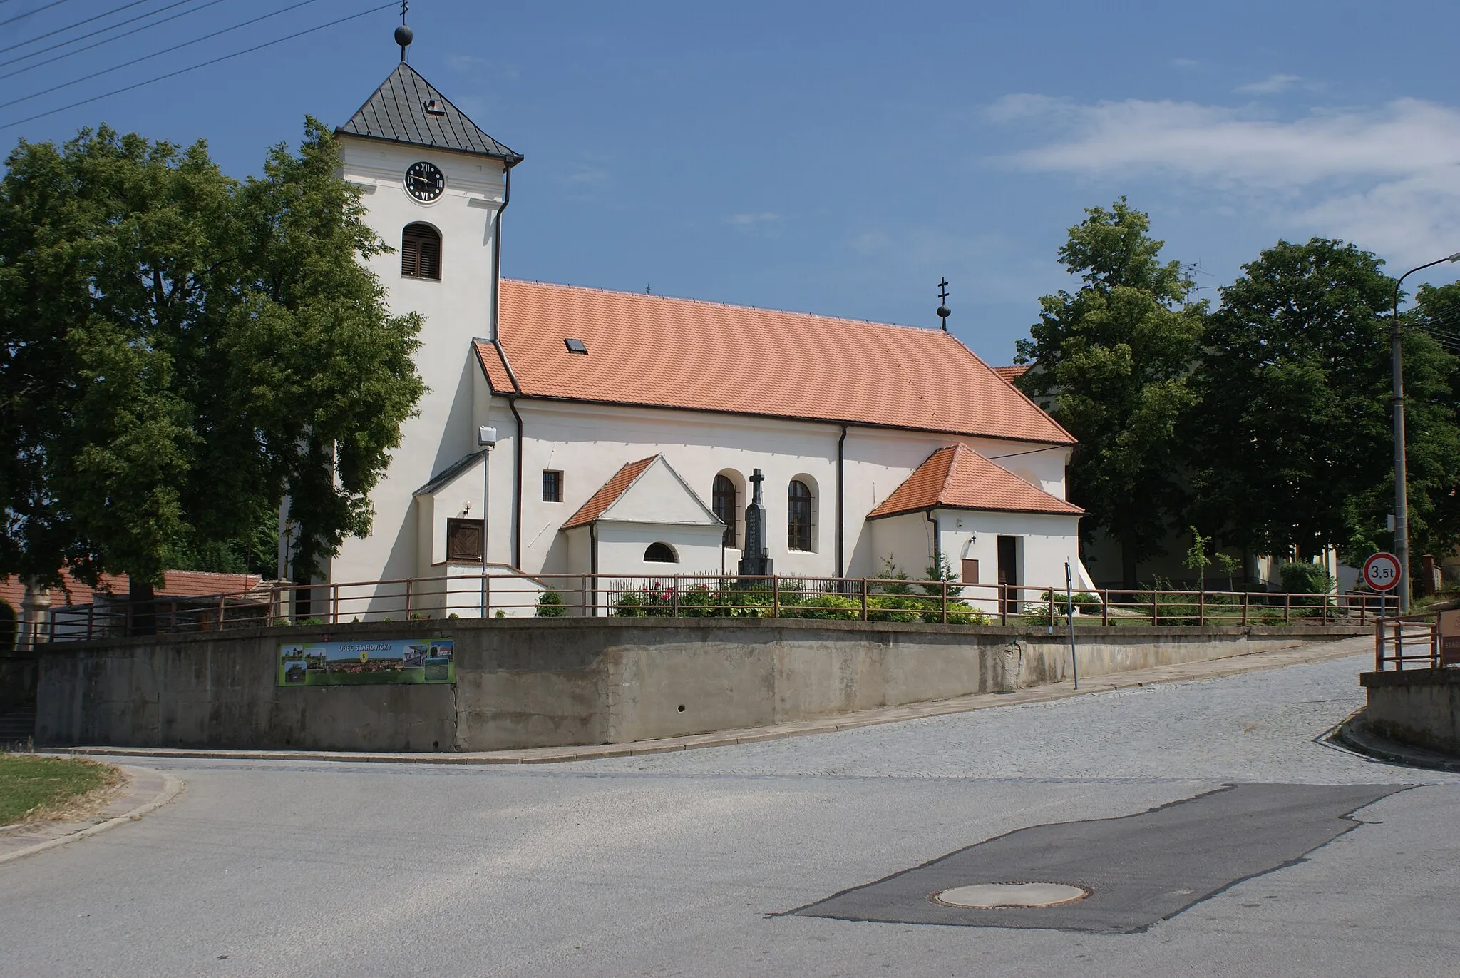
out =
[[[394,249],[374,256],[368,268],[384,285],[391,311],[416,311],[425,320],[416,370],[428,392],[419,414],[402,425],[402,443],[371,493],[371,535],[346,539],[331,573],[337,580],[406,577],[419,572],[422,550],[412,493],[474,450],[473,392],[480,368],[472,357],[472,339],[489,330],[492,219],[502,199],[504,170],[501,161],[485,156],[350,136],[340,137],[340,159],[343,177],[365,190],[366,224]],[[413,199],[403,184],[410,164],[422,159],[447,178],[445,192],[429,205]],[[441,232],[439,282],[400,273],[402,231],[418,221]]]

